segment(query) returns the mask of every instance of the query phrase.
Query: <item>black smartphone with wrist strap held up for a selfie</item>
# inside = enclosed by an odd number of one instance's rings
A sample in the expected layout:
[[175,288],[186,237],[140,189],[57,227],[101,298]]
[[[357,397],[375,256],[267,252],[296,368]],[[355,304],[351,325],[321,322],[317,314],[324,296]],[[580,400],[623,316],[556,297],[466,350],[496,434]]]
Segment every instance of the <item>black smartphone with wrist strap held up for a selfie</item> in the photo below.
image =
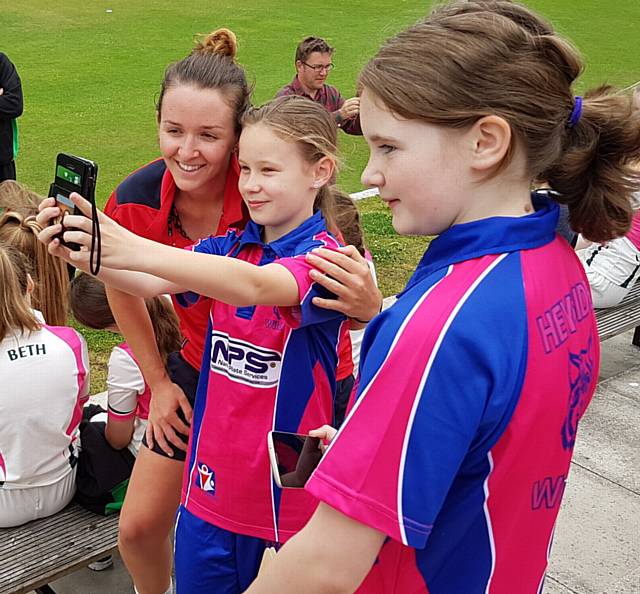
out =
[[[49,188],[49,196],[56,199],[56,205],[62,210],[62,217],[56,223],[62,222],[64,226],[65,215],[75,210],[69,198],[71,192],[78,192],[92,204],[95,203],[97,178],[98,166],[93,161],[67,153],[58,154],[55,177]],[[58,238],[62,241],[61,235]],[[76,244],[68,247],[79,249]]]

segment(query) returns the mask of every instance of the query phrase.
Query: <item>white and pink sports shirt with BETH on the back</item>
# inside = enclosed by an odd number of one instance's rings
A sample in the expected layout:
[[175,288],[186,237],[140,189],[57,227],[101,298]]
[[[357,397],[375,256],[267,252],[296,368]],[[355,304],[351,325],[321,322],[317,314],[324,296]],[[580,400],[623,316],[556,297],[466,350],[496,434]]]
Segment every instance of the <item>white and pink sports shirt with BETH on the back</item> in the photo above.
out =
[[0,342],[0,488],[50,485],[71,472],[88,392],[87,345],[73,328],[43,323],[35,332],[5,336]]

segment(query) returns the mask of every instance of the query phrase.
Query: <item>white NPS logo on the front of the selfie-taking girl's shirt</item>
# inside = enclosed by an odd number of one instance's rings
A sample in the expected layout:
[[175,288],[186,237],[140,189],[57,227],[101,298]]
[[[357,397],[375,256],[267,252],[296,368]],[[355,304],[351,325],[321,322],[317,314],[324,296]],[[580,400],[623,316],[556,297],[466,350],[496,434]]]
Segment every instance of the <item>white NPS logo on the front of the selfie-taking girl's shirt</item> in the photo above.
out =
[[230,380],[257,388],[278,383],[282,354],[250,342],[230,338],[224,332],[211,333],[211,371]]

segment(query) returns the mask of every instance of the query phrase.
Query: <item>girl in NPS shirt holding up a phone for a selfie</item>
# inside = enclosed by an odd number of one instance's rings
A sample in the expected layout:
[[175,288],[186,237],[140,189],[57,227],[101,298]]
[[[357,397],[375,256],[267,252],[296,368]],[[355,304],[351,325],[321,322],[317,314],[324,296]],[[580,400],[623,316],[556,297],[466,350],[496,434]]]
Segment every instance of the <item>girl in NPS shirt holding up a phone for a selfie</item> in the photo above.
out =
[[[312,304],[330,295],[310,279],[305,254],[339,246],[327,232],[336,135],[330,114],[298,97],[246,114],[239,188],[252,220],[244,232],[179,250],[101,216],[106,283],[141,296],[179,293],[184,306],[213,298],[176,527],[178,592],[243,591],[265,543],[286,541],[315,508],[304,490],[274,484],[267,433],[306,433],[333,418],[338,339],[348,322]],[[41,220],[57,212],[45,208]],[[67,216],[65,228],[87,229],[87,221]],[[65,240],[72,237],[91,240],[68,230]],[[88,254],[56,240],[50,250],[88,264]]]

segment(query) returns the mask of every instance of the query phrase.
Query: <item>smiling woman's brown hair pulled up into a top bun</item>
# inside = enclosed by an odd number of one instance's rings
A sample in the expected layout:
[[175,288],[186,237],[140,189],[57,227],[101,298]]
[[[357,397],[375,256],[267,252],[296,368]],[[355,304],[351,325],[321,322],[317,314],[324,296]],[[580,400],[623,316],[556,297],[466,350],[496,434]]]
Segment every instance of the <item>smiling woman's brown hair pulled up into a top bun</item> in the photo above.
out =
[[236,134],[240,133],[242,115],[251,105],[251,87],[242,66],[236,60],[238,43],[229,29],[216,29],[197,40],[189,56],[170,64],[160,86],[158,115],[166,91],[178,85],[198,89],[218,89],[235,114]]

